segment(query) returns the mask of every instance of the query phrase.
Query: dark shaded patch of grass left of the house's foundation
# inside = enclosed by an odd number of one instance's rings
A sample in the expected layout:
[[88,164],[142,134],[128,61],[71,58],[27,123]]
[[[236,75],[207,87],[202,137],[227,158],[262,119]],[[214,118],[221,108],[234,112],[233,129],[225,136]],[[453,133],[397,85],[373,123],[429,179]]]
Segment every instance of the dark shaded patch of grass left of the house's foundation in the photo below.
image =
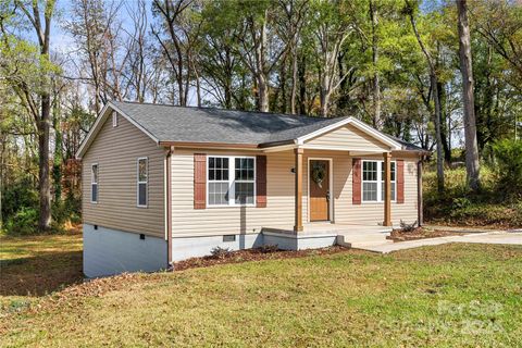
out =
[[0,260],[0,296],[42,296],[83,277],[80,250]]

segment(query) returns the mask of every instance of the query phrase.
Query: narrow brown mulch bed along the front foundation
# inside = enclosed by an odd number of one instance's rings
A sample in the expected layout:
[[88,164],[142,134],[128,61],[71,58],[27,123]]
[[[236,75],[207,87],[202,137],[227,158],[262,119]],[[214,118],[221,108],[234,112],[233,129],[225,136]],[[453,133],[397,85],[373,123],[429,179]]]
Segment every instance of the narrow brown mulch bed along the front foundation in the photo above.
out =
[[334,246],[330,248],[322,249],[311,249],[311,250],[298,250],[298,251],[286,251],[286,250],[266,250],[265,248],[256,248],[256,249],[246,249],[238,251],[231,251],[221,254],[220,257],[203,257],[203,258],[191,258],[184,261],[174,263],[174,271],[183,271],[188,269],[197,268],[208,268],[216,264],[227,264],[227,263],[240,263],[247,261],[261,261],[261,260],[279,260],[279,259],[294,259],[302,258],[308,256],[322,256],[322,254],[332,254],[341,251],[346,251],[349,248]]

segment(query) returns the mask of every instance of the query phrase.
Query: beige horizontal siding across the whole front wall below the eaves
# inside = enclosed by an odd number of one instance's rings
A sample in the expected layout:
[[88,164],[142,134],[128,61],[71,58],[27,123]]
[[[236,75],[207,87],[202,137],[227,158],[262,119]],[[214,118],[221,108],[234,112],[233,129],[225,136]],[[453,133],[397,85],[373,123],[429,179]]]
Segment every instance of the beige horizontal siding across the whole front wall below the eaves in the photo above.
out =
[[[172,223],[173,236],[207,236],[237,233],[259,233],[262,227],[293,228],[294,226],[294,174],[293,151],[265,153],[266,156],[266,208],[212,207],[194,209],[194,153],[223,156],[256,156],[257,151],[217,151],[176,148],[172,156]],[[383,203],[353,206],[352,157],[346,151],[304,150],[302,220],[308,215],[308,159],[333,160],[334,217],[339,223],[377,225],[383,222]],[[382,159],[382,157],[375,157]],[[417,220],[417,158],[405,158],[405,203],[391,203],[394,224],[400,219]]]

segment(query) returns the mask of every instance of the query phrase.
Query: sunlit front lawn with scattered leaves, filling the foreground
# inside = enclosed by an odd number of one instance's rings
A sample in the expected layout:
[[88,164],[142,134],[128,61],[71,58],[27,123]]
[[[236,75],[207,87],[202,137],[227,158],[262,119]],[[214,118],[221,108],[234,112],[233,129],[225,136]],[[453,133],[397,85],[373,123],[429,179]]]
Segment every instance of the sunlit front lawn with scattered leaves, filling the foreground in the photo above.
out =
[[512,347],[521,322],[522,247],[445,245],[102,279],[4,314],[0,345]]

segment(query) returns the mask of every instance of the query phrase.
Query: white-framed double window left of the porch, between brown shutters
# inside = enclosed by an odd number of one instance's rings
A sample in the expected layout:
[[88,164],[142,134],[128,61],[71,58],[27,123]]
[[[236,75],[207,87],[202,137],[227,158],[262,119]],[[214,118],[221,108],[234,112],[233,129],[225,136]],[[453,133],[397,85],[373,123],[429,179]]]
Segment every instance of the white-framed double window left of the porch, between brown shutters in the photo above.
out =
[[209,157],[209,206],[253,206],[254,197],[254,158]]

